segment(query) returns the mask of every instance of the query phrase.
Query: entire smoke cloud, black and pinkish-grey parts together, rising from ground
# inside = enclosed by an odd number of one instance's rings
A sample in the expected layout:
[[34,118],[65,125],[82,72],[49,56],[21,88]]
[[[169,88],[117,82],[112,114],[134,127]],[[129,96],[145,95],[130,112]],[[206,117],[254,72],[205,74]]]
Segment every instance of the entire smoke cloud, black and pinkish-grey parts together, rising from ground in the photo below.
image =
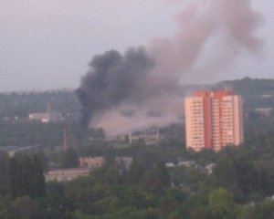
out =
[[255,35],[261,17],[251,0],[195,1],[175,18],[174,36],[93,57],[77,90],[84,127],[91,122],[118,134],[174,122],[183,111],[180,82],[210,82],[237,57],[262,50]]

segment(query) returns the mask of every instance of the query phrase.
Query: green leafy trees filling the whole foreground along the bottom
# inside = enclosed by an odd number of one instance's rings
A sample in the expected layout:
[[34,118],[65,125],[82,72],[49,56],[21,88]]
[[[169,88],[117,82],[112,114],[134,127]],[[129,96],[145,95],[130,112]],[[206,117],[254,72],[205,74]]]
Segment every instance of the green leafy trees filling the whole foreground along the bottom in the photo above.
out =
[[[42,182],[42,178],[33,177],[35,161],[43,161],[41,155],[37,160],[23,156],[2,162],[1,179],[12,180],[5,177],[5,166],[11,168],[16,161],[13,170],[18,172],[9,174],[17,176],[13,180],[17,184],[8,188],[20,191],[1,190],[0,218],[14,219],[18,215],[41,219],[273,218],[274,142],[257,141],[238,148],[227,147],[218,153],[184,150],[177,153],[178,146],[172,144],[173,141],[166,141],[162,145],[145,146],[143,141],[137,141],[127,151],[107,145],[100,151],[98,146],[90,145],[90,153],[104,154],[104,165],[89,176],[68,183],[47,183],[45,190],[42,184],[41,191],[45,193],[34,193],[37,187],[32,184]],[[176,153],[177,159],[167,157],[174,167],[166,167],[164,147]],[[113,158],[119,154],[133,157],[129,170],[114,162]],[[4,156],[2,161],[5,159]],[[179,165],[187,161],[194,164]],[[213,172],[205,172],[205,166],[212,162],[216,164]],[[37,163],[41,167],[43,162]]]

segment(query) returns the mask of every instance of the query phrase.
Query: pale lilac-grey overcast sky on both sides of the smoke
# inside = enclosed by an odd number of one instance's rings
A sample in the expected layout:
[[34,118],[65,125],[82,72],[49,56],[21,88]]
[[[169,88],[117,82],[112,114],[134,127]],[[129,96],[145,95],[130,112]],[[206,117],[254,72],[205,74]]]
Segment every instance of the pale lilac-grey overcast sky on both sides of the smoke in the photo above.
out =
[[[182,7],[164,0],[0,0],[0,91],[75,89],[95,54],[172,36]],[[274,1],[254,0],[254,9],[264,18],[264,52],[241,56],[216,80],[272,78]]]

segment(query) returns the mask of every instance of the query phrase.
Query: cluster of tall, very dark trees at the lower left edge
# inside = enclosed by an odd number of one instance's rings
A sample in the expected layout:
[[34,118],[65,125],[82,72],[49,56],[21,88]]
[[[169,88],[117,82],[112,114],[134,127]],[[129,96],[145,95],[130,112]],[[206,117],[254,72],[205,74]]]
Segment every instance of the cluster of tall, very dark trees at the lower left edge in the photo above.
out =
[[43,153],[20,154],[9,158],[0,152],[0,194],[12,198],[45,196],[45,161]]

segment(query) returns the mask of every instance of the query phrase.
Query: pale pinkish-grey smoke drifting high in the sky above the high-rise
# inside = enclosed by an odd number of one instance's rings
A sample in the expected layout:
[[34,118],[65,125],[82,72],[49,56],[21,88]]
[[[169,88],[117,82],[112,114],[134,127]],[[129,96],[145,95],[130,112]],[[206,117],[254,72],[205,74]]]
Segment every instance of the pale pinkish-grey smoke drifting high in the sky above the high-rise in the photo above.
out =
[[208,83],[226,73],[243,52],[261,52],[256,30],[262,18],[252,9],[251,0],[197,1],[175,18],[177,33],[155,38],[149,46],[157,72],[174,81]]

